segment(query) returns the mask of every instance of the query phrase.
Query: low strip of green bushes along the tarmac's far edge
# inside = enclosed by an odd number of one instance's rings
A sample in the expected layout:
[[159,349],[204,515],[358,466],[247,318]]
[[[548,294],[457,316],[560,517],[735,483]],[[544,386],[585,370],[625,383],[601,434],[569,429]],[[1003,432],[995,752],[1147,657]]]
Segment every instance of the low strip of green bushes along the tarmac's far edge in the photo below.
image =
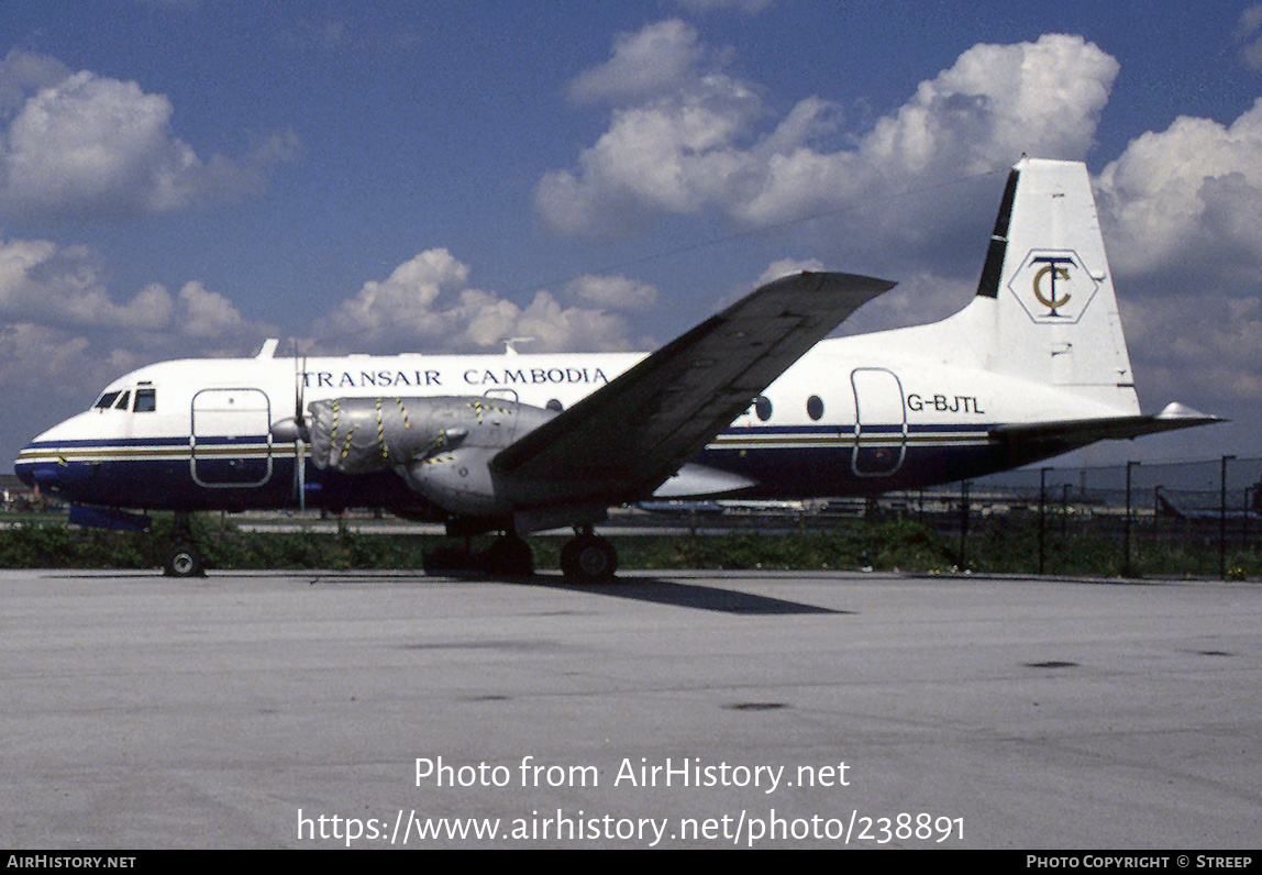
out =
[[[172,543],[172,518],[158,515],[149,534],[80,529],[61,519],[30,519],[0,529],[0,567],[8,568],[158,568]],[[447,539],[437,535],[242,532],[218,515],[194,515],[192,535],[208,568],[372,569],[422,568],[427,552]],[[475,538],[485,549],[492,538]],[[1037,529],[1030,520],[1003,520],[969,534],[960,556],[958,538],[943,539],[911,520],[842,520],[829,528],[789,533],[729,532],[721,535],[611,535],[625,569],[899,569],[1029,574],[1037,571]],[[533,538],[536,567],[559,564],[562,538]],[[1233,549],[1228,577],[1262,577],[1262,553]],[[1054,574],[1114,577],[1123,571],[1118,538],[1049,534],[1044,569]],[[1131,573],[1136,577],[1217,577],[1217,543],[1135,539]]]

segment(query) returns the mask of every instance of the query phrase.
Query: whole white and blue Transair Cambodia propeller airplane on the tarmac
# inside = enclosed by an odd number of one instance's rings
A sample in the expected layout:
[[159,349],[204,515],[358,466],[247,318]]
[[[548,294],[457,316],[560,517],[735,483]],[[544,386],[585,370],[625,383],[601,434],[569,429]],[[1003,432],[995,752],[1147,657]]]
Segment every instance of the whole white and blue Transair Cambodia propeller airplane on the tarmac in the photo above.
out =
[[[799,500],[978,477],[1111,438],[1220,422],[1141,414],[1090,179],[1022,158],[977,293],[936,323],[828,338],[893,283],[776,279],[652,354],[276,356],[169,361],[34,438],[16,473],[71,521],[175,513],[167,573],[202,573],[199,510],[381,508],[524,535],[572,528],[562,571],[607,581],[594,527],[644,500]],[[140,513],[138,513],[140,511]]]

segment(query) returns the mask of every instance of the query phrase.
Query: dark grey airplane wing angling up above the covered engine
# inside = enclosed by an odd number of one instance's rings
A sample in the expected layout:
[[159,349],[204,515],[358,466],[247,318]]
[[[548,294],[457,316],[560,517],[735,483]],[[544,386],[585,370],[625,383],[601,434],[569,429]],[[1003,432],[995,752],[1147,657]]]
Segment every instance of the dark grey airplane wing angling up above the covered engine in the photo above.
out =
[[550,500],[642,499],[781,372],[893,283],[801,273],[758,288],[502,449],[495,472]]

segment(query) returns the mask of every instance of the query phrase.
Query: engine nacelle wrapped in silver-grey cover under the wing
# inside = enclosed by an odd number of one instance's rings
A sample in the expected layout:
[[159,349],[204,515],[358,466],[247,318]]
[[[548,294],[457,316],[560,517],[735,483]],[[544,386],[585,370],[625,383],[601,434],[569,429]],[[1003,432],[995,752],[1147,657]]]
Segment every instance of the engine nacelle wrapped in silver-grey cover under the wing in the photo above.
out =
[[317,467],[342,473],[396,470],[408,485],[461,516],[512,511],[490,462],[557,415],[498,398],[338,398],[313,402],[310,451]]

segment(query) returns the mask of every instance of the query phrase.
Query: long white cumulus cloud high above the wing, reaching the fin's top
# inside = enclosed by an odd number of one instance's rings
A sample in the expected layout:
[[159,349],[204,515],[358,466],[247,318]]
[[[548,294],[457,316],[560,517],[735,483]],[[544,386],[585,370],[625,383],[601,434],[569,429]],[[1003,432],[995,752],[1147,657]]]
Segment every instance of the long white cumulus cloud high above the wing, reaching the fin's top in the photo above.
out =
[[[976,45],[835,148],[844,131],[827,97],[804,97],[776,119],[756,85],[704,67],[703,57],[695,32],[668,21],[622,38],[607,64],[575,81],[584,93],[601,82],[599,93],[617,100],[608,129],[577,165],[536,186],[536,208],[557,231],[623,234],[654,216],[705,207],[766,225],[996,170],[1022,153],[1082,159],[1118,73],[1117,61],[1080,37]],[[674,87],[642,98],[630,85],[616,88],[640,81],[615,74],[631,69],[660,69]],[[873,217],[863,221],[871,227]],[[933,221],[888,216],[885,230],[914,237]]]

